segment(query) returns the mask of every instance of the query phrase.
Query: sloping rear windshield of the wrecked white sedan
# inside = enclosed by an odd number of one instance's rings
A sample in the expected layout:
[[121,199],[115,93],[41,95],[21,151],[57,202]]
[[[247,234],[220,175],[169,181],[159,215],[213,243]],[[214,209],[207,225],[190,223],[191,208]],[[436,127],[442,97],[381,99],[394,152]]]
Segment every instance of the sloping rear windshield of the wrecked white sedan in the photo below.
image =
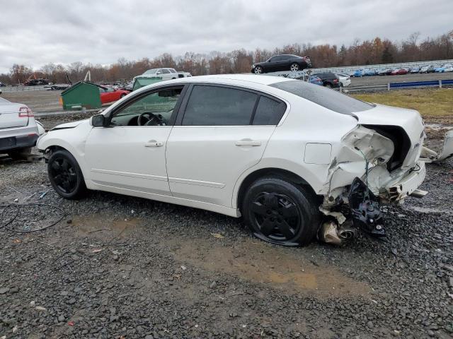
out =
[[367,111],[374,107],[372,104],[338,93],[336,90],[306,83],[305,81],[282,81],[281,83],[273,83],[270,86],[303,97],[341,114]]

